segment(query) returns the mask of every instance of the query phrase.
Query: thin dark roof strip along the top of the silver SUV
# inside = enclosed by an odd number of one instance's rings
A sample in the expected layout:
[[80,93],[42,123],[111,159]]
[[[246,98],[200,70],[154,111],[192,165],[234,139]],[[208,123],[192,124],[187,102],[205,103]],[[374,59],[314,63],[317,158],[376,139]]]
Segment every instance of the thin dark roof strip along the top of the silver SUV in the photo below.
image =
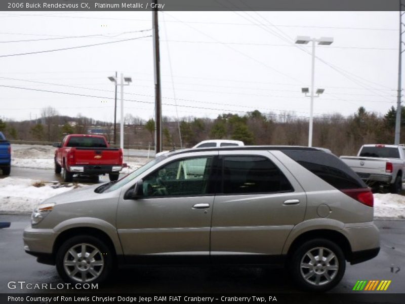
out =
[[224,146],[224,147],[208,147],[208,148],[188,148],[181,150],[172,150],[171,155],[201,152],[201,151],[246,151],[246,150],[300,150],[300,151],[323,151],[322,149],[304,147],[304,146],[277,146],[277,145],[256,145],[256,146]]

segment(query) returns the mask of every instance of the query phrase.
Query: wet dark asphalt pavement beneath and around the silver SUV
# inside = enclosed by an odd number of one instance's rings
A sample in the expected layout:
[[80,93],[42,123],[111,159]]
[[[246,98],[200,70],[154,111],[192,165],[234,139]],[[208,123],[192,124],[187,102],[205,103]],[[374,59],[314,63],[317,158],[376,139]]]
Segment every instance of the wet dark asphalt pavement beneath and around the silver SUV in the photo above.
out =
[[[23,250],[26,215],[0,215],[11,222],[0,229],[0,293],[32,292],[9,289],[10,281],[62,283],[55,267],[39,264]],[[405,292],[405,220],[376,220],[381,235],[379,255],[367,262],[347,264],[341,283],[331,292],[351,293],[357,280],[392,280],[386,293]],[[43,292],[43,291],[35,291]],[[47,292],[47,291],[44,291]],[[48,290],[48,292],[55,292]],[[56,290],[77,292],[77,290]],[[138,267],[118,270],[113,280],[92,293],[284,293],[299,292],[283,269],[244,267]],[[358,292],[358,291],[357,291]]]

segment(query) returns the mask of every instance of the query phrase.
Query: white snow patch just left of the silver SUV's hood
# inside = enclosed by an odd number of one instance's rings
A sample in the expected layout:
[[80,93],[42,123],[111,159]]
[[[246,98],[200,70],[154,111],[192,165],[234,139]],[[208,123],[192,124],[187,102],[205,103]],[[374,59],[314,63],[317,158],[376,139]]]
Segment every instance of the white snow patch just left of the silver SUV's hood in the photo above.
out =
[[0,213],[30,213],[42,201],[83,184],[45,183],[34,179],[6,177],[0,179]]

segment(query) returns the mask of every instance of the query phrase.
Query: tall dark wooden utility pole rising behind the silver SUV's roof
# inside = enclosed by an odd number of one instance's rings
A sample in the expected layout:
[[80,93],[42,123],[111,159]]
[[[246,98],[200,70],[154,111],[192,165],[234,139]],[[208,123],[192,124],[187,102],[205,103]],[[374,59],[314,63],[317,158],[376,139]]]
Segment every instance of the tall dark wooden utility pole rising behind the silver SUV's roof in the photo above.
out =
[[157,9],[152,12],[153,27],[153,63],[155,80],[155,153],[161,152],[161,89],[160,89],[160,56],[159,56],[159,22]]

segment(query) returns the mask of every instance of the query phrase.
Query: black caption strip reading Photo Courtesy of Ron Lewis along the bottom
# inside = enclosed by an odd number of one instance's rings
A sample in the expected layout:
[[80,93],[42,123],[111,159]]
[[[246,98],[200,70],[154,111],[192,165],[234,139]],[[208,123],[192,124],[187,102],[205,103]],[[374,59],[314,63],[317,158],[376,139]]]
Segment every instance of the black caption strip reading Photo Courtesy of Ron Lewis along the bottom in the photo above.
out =
[[89,293],[31,293],[0,294],[2,304],[351,304],[351,303],[404,303],[405,294],[350,293],[350,294],[89,294]]

